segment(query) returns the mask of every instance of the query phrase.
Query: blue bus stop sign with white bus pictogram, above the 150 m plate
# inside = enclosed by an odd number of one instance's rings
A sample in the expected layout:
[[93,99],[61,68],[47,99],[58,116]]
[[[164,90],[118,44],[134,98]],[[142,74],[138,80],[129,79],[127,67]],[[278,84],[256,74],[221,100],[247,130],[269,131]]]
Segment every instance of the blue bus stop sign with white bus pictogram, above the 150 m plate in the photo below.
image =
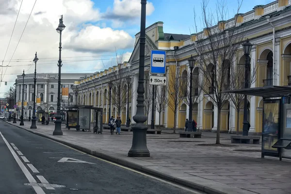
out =
[[166,73],[166,51],[152,50],[150,53],[150,73]]

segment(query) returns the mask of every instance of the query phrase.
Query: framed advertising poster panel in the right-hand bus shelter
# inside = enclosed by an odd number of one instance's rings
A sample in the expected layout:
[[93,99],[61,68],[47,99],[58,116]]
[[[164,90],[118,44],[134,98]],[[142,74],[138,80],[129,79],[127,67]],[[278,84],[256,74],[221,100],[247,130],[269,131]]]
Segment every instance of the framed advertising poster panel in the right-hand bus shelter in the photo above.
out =
[[280,100],[264,101],[263,128],[262,128],[262,152],[278,154],[277,148],[272,146],[278,140]]

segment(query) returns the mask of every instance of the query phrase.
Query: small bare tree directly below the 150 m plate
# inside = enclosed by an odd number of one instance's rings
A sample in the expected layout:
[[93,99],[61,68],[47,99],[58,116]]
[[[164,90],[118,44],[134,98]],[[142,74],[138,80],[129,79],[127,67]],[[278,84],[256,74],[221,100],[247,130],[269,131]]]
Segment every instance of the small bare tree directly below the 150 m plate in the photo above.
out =
[[166,105],[167,105],[166,88],[164,86],[157,86],[155,107],[159,113],[159,127],[161,126],[161,113],[166,108]]

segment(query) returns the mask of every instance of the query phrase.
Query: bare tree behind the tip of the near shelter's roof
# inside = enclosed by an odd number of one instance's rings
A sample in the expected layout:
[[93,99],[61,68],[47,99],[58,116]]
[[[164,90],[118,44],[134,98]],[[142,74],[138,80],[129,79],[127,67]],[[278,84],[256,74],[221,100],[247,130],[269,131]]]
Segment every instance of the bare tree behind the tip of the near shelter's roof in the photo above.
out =
[[[243,56],[241,59],[239,59],[239,56],[237,56],[236,64],[233,65],[231,68],[231,76],[230,76],[230,89],[236,90],[236,89],[242,89],[245,88],[245,56]],[[256,81],[256,75],[257,75],[257,67],[256,65],[253,65],[253,69],[251,69],[250,66],[248,66],[248,87],[251,86],[252,83]],[[240,128],[240,110],[243,108],[243,98],[244,95],[242,94],[230,94],[230,98],[232,101],[232,104],[236,110],[237,113],[237,122],[236,122],[236,134],[239,135],[239,128]],[[250,96],[247,97],[248,100],[251,98]]]

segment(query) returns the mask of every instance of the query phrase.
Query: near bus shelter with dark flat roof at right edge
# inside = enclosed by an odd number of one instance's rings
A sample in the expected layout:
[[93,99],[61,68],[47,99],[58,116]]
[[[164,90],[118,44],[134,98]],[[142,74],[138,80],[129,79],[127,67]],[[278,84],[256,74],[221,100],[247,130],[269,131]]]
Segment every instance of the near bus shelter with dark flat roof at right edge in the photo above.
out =
[[291,159],[291,87],[265,86],[225,93],[263,98],[261,157]]

